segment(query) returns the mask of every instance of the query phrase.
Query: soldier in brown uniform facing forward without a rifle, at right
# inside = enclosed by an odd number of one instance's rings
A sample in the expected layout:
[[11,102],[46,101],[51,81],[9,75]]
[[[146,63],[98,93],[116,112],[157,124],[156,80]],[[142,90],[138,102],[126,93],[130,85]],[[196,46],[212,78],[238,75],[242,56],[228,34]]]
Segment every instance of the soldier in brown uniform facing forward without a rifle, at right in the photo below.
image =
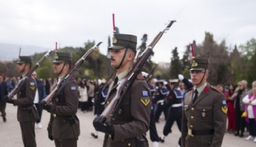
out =
[[182,147],[220,147],[226,130],[226,100],[208,78],[208,59],[193,58],[193,88],[185,94],[182,112]]

